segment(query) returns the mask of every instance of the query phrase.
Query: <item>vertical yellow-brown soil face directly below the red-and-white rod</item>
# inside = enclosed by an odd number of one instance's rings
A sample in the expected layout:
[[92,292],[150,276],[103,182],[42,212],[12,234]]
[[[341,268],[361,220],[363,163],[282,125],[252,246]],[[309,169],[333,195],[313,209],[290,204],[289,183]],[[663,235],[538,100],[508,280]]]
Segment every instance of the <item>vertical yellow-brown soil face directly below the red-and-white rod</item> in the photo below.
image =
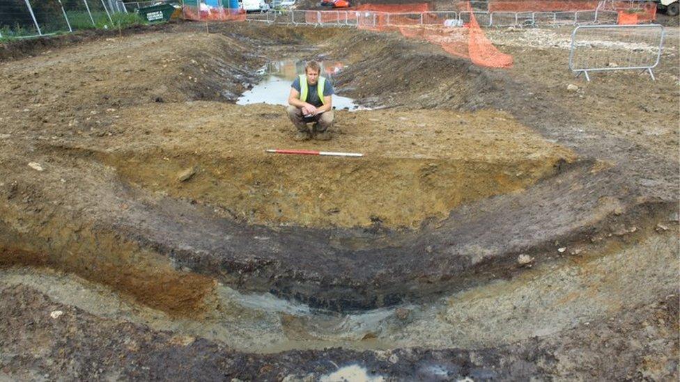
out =
[[445,218],[458,205],[524,189],[553,175],[564,160],[536,157],[500,164],[164,155],[126,152],[102,161],[127,182],[220,207],[226,216],[247,223],[316,228],[419,228],[428,218]]

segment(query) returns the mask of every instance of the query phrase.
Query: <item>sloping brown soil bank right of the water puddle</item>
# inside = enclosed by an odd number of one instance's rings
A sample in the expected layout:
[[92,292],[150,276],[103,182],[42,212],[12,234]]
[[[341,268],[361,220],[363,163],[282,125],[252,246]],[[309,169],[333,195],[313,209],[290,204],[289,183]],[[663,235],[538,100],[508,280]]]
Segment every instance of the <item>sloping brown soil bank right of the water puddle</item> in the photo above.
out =
[[425,42],[389,33],[333,40],[334,54],[355,61],[337,76],[350,97],[400,109],[498,109],[507,97],[507,72],[481,69]]

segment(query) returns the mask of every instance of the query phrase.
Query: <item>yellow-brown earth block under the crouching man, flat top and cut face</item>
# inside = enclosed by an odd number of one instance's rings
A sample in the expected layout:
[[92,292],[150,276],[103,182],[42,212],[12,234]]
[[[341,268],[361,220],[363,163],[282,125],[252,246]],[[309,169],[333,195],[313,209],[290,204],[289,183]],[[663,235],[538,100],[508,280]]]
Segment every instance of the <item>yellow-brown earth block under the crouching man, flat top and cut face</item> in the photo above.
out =
[[[339,113],[336,138],[322,144],[293,142],[281,106],[158,109],[161,117],[153,122],[141,108],[119,122],[144,124],[154,138],[78,150],[115,168],[123,182],[210,205],[249,224],[417,229],[460,205],[523,190],[575,160],[571,150],[495,111],[417,118],[398,111]],[[360,151],[364,157],[283,156],[265,148]]]

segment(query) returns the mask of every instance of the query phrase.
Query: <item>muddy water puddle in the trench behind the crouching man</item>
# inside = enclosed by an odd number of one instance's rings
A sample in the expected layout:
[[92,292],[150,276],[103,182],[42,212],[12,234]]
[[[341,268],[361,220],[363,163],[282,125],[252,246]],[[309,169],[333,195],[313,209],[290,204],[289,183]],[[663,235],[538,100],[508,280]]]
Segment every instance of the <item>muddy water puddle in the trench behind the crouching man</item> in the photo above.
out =
[[[304,74],[304,64],[305,61],[300,60],[272,61],[268,63],[259,72],[263,76],[262,80],[252,89],[245,91],[236,100],[236,104],[263,103],[287,106],[291,84],[298,75]],[[321,75],[332,82],[334,82],[334,76],[343,69],[343,64],[338,62],[322,61],[320,64]],[[334,90],[337,93],[338,89],[335,88]],[[358,105],[355,100],[337,94],[333,95],[333,107],[336,110],[368,110]]]

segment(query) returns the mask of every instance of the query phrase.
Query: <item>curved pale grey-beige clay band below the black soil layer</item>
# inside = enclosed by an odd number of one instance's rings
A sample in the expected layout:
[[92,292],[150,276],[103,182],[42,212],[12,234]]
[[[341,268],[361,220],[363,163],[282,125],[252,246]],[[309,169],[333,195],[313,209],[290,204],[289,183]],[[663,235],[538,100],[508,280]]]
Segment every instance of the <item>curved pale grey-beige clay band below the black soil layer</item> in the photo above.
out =
[[484,349],[550,336],[654,301],[659,295],[673,296],[678,278],[672,266],[677,262],[673,239],[677,230],[661,235],[649,227],[642,230],[624,239],[627,246],[618,240],[580,245],[585,252],[575,260],[563,258],[526,269],[512,280],[470,287],[419,305],[355,314],[310,310],[270,294],[244,294],[217,285],[203,315],[173,317],[120,299],[109,287],[26,268],[0,270],[0,285],[26,285],[93,315],[172,331],[189,341],[214,340],[238,351]]

